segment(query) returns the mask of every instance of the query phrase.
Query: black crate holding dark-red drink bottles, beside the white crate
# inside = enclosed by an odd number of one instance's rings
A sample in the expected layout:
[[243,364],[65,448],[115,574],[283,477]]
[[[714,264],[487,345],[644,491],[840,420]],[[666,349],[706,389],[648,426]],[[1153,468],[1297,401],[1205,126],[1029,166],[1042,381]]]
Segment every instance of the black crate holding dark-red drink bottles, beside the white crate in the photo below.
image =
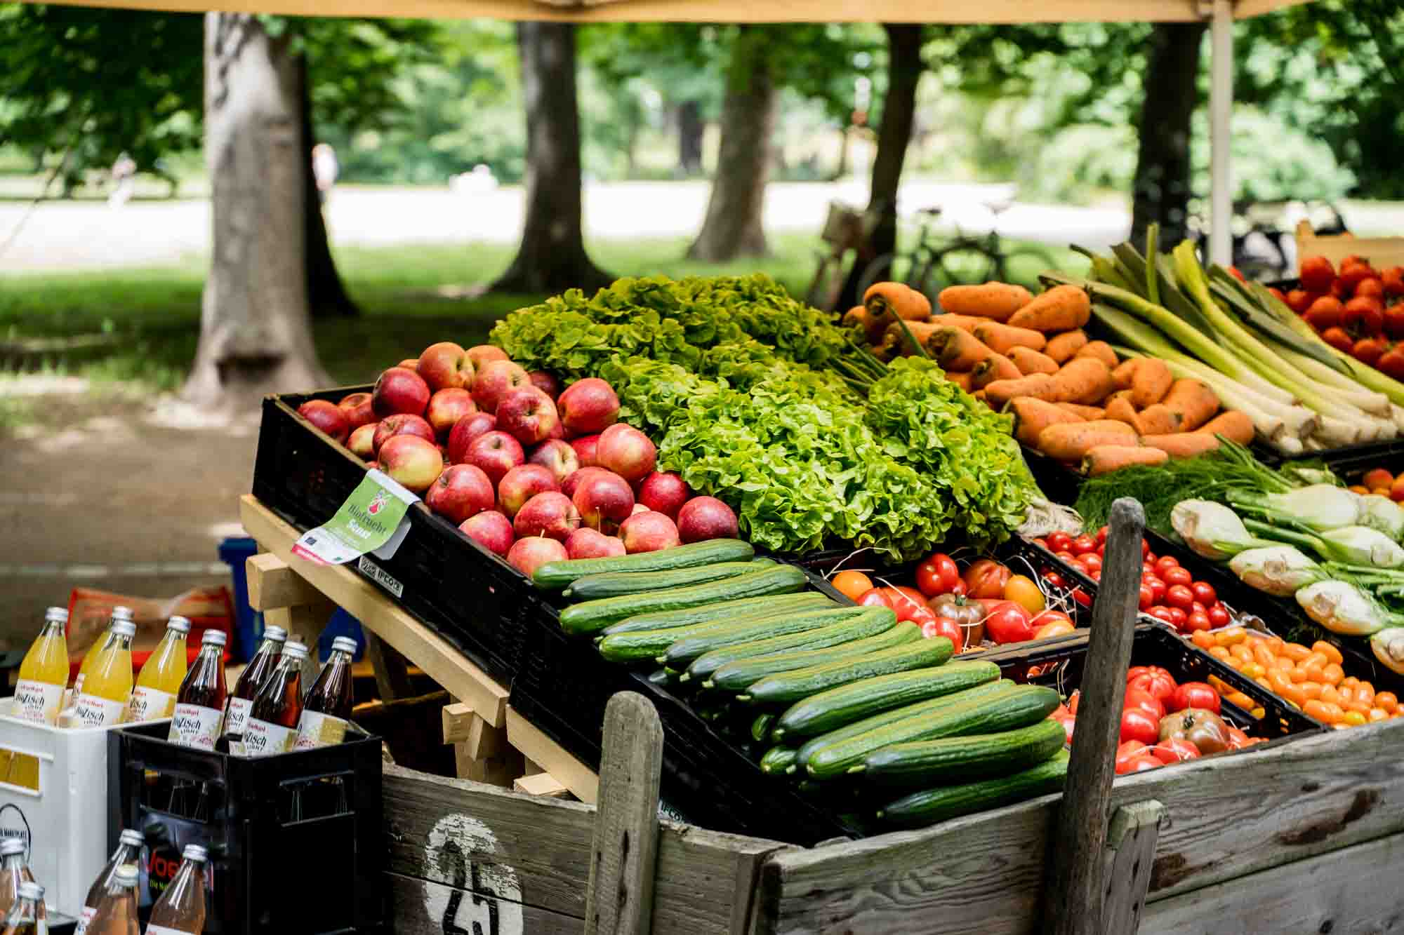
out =
[[[379,932],[385,906],[380,740],[244,758],[181,747],[166,726],[108,738],[108,848],[146,835],[142,918],[187,844],[209,849],[205,932]],[[154,890],[154,893],[153,893]]]

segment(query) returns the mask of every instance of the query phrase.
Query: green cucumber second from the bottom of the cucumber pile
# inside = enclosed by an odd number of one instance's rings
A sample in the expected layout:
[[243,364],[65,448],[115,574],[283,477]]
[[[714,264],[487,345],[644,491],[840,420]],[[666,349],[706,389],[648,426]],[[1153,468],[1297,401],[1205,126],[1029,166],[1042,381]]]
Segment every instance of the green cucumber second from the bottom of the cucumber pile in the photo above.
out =
[[1036,767],[1063,748],[1067,731],[1043,719],[1000,734],[917,740],[863,757],[863,778],[885,786],[939,786],[993,779]]

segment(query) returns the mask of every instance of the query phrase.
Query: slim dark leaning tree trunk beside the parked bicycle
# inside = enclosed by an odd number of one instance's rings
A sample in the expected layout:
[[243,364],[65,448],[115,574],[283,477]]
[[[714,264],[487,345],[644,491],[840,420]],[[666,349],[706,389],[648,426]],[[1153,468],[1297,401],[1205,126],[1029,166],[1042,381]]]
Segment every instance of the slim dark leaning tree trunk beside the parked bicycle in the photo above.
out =
[[887,94],[882,102],[878,126],[878,153],[873,156],[868,211],[878,212],[878,226],[862,243],[844,281],[838,307],[858,305],[858,279],[875,258],[897,247],[897,185],[907,160],[911,126],[917,114],[917,84],[921,81],[921,27],[883,24],[887,31]]

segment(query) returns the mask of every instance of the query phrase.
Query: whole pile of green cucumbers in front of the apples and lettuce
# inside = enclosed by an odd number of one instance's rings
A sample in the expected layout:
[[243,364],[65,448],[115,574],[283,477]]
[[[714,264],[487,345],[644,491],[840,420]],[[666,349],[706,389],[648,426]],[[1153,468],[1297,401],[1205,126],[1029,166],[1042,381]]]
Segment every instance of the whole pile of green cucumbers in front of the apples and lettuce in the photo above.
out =
[[840,811],[917,827],[1063,788],[1057,692],[948,663],[951,640],[804,590],[746,542],[555,562],[534,580],[571,601],[566,632],[657,667],[764,772]]

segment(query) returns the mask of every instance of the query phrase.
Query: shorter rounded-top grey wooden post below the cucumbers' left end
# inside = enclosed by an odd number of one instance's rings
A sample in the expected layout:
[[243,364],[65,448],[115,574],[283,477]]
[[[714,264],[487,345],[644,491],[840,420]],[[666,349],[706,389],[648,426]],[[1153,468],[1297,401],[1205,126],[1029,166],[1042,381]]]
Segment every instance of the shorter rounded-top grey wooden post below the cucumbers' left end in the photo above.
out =
[[605,708],[600,813],[590,849],[585,935],[646,935],[658,855],[663,724],[649,699],[619,692]]

